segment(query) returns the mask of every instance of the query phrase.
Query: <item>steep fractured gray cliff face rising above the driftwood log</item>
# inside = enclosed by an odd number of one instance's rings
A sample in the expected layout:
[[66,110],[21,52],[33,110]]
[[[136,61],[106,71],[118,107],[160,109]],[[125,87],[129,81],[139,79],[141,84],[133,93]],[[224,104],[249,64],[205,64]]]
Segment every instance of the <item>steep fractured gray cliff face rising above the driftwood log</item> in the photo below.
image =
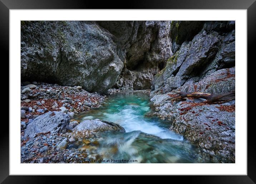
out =
[[[182,29],[182,23],[178,25]],[[178,23],[176,23],[178,24]],[[185,25],[185,24],[184,24]],[[183,28],[185,29],[185,28]],[[166,67],[163,68],[152,81],[152,94],[162,91],[162,93],[171,92],[179,88],[187,92],[206,92],[206,90],[196,87],[197,82],[202,86],[203,79],[212,75],[213,78],[224,78],[220,73],[215,73],[223,68],[235,66],[235,27],[232,21],[207,21],[202,26],[202,30],[196,34],[193,39],[181,39],[184,41],[172,57],[167,61]],[[191,40],[191,41],[187,41]],[[233,69],[231,69],[233,70]],[[235,73],[230,74],[234,75]],[[216,75],[216,77],[214,77]],[[218,76],[220,75],[220,76]],[[228,77],[227,77],[228,78]],[[200,81],[203,80],[201,83]],[[225,87],[232,81],[222,80],[222,90],[218,93],[225,93]],[[207,84],[206,84],[207,85]],[[208,86],[207,86],[208,87]],[[193,90],[193,88],[195,88]],[[232,90],[232,89],[231,89]]]

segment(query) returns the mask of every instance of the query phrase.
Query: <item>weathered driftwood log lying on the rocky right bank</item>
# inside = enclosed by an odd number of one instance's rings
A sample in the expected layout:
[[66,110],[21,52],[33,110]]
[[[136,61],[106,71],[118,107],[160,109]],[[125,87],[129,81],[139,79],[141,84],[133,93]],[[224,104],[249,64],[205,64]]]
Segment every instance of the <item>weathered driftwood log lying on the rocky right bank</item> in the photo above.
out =
[[235,99],[235,91],[231,91],[229,93],[223,93],[223,94],[210,94],[210,93],[201,93],[201,92],[186,93],[182,91],[176,91],[175,93],[179,95],[173,98],[172,101],[182,99],[182,98],[187,98],[187,97],[206,99],[206,101],[202,103],[228,102]]

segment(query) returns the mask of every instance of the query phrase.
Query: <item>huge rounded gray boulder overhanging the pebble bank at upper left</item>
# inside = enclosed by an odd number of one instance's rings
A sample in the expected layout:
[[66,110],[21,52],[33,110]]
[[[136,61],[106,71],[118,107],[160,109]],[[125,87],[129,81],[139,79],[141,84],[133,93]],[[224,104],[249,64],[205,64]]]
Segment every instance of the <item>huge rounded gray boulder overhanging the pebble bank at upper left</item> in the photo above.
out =
[[90,21],[22,21],[21,78],[105,92],[123,68],[112,36]]

